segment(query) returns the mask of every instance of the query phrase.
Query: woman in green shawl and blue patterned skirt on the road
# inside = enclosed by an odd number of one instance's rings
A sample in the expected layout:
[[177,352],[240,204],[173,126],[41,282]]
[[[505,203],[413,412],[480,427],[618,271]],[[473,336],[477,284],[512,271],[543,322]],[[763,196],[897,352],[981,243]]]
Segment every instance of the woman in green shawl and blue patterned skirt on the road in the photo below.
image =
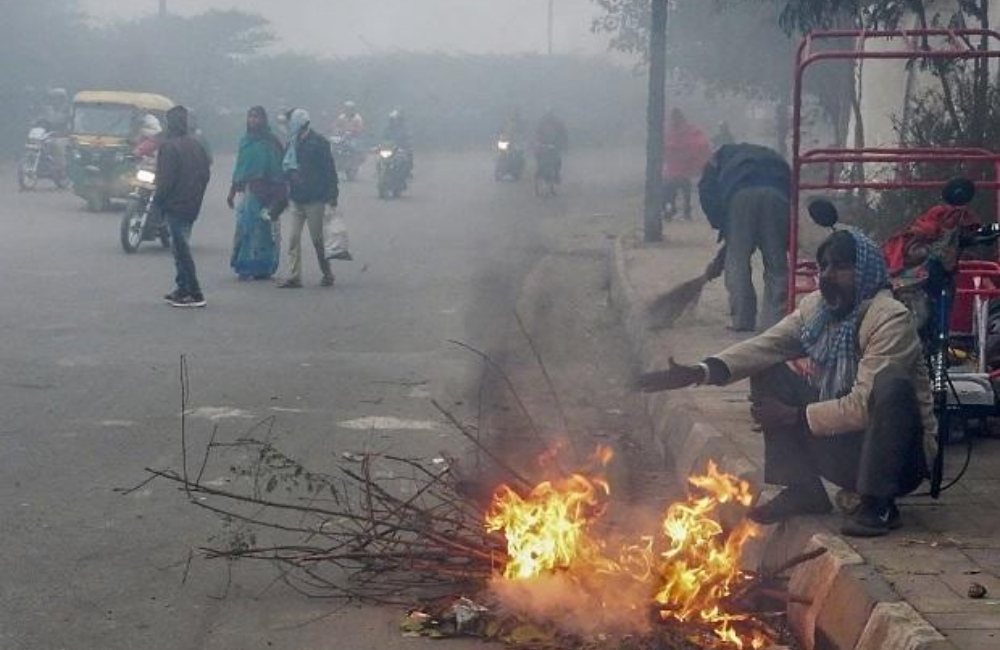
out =
[[271,132],[261,106],[247,111],[247,132],[240,139],[233,183],[226,202],[236,212],[230,266],[241,280],[270,278],[278,270],[277,218],[288,205],[281,161],[284,147]]

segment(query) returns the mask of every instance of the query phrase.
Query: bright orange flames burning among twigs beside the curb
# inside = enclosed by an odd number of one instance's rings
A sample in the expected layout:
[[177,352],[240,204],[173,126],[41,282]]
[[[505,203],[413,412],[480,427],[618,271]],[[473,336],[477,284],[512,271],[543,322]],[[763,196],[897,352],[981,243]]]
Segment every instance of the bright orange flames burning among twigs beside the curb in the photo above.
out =
[[[611,458],[610,450],[599,449],[595,458],[603,466]],[[526,495],[501,486],[486,515],[486,528],[502,532],[507,542],[502,580],[519,582],[558,573],[613,593],[615,585],[627,579],[647,594],[641,605],[654,607],[662,620],[710,628],[732,648],[763,647],[769,641],[763,633],[752,626],[740,627],[745,615],[726,611],[726,598],[746,579],[740,553],[756,528],[744,520],[727,531],[718,511],[726,504],[749,506],[749,485],[711,462],[704,476],[689,480],[697,494],[671,505],[656,534],[617,544],[602,537],[596,527],[610,495],[603,478],[572,474],[540,483]],[[607,603],[602,600],[601,606]]]

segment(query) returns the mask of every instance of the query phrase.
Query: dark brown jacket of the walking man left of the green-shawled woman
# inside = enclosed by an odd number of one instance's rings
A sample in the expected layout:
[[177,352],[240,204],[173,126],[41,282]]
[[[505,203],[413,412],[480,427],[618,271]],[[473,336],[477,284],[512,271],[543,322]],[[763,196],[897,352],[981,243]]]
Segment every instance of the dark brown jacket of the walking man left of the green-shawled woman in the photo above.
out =
[[156,194],[153,203],[167,214],[198,218],[211,162],[195,138],[168,132],[156,155]]

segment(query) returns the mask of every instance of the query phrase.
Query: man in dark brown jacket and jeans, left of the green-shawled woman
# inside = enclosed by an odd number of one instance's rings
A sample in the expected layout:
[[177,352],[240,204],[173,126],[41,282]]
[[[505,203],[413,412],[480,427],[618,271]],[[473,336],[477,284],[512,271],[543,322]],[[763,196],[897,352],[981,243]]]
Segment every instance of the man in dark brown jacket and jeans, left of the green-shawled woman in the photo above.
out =
[[188,134],[188,110],[174,106],[167,111],[166,137],[156,157],[156,193],[153,204],[162,212],[170,230],[170,248],[177,269],[177,287],[165,298],[174,307],[204,307],[191,257],[191,228],[211,176],[205,148]]

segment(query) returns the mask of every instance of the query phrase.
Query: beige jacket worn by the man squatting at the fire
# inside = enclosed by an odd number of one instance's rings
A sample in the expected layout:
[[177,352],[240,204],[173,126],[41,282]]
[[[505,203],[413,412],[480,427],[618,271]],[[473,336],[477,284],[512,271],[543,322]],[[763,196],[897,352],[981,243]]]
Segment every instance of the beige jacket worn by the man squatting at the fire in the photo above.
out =
[[[774,327],[751,339],[712,355],[729,368],[730,382],[738,381],[770,366],[806,356],[802,327],[820,308],[823,297],[815,291],[802,299],[798,309]],[[928,463],[937,453],[937,419],[930,378],[913,315],[888,290],[871,301],[858,328],[857,377],[851,392],[806,407],[806,419],[814,435],[826,436],[861,431],[868,423],[868,395],[875,375],[890,364],[898,364],[914,378],[917,401],[924,423],[924,451]]]

